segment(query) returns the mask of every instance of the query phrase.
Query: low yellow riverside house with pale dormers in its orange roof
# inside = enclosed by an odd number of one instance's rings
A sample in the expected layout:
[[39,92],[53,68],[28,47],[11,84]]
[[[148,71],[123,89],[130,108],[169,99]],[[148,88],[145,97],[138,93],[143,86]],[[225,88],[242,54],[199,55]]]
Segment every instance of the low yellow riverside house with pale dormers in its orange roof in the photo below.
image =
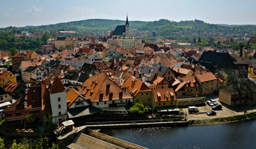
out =
[[152,108],[176,106],[176,94],[171,89],[153,89],[154,100],[152,102]]

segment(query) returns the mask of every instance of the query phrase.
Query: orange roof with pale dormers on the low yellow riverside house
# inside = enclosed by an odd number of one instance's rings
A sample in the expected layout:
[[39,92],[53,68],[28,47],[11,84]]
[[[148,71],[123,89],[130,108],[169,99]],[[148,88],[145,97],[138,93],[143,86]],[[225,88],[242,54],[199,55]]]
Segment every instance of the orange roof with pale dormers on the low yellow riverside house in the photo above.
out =
[[170,89],[153,89],[155,102],[176,101],[176,94],[172,88]]

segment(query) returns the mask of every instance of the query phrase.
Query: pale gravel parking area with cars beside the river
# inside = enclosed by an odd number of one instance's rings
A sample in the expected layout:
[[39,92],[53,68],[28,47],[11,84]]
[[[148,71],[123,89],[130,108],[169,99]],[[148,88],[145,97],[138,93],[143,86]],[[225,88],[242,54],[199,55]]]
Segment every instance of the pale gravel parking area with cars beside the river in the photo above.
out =
[[[217,95],[211,95],[206,97],[206,100],[211,100],[214,99],[217,101],[218,104],[222,105],[219,102],[219,97]],[[217,112],[216,116],[207,116],[206,112],[212,110],[210,105],[203,105],[197,107],[199,110],[199,113],[188,113],[187,108],[184,110],[187,112],[187,119],[193,120],[193,119],[209,119],[209,118],[223,118],[223,117],[228,117],[228,116],[236,116],[236,115],[241,115],[244,114],[246,111],[247,113],[251,112],[256,112],[256,106],[239,106],[239,107],[231,107],[227,105],[222,105],[222,110],[214,110]]]

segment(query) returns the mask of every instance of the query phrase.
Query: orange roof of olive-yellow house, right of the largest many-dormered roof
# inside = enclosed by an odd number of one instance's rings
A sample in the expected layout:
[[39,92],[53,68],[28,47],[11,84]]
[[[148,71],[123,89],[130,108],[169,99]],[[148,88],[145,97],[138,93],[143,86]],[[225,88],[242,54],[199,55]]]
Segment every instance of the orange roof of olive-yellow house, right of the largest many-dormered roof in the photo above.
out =
[[[134,81],[132,81],[132,79]],[[134,76],[129,76],[129,78],[127,78],[126,81],[124,81],[124,84],[122,85],[123,87],[125,87],[125,89],[127,90],[127,92],[129,92],[130,94],[132,94],[134,97],[139,93],[139,92],[148,92],[151,91],[150,88],[148,88],[148,86],[143,83],[143,81],[138,80],[137,78],[135,78]]]

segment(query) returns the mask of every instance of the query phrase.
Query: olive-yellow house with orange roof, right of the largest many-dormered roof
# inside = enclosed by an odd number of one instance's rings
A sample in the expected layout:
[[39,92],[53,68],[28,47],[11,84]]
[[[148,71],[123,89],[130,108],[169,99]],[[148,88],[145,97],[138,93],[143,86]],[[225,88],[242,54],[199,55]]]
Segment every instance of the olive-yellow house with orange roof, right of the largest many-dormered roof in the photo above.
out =
[[142,102],[143,105],[152,106],[152,90],[143,81],[138,80],[134,76],[129,76],[124,84],[122,84],[122,87],[129,94],[132,94],[134,103]]

